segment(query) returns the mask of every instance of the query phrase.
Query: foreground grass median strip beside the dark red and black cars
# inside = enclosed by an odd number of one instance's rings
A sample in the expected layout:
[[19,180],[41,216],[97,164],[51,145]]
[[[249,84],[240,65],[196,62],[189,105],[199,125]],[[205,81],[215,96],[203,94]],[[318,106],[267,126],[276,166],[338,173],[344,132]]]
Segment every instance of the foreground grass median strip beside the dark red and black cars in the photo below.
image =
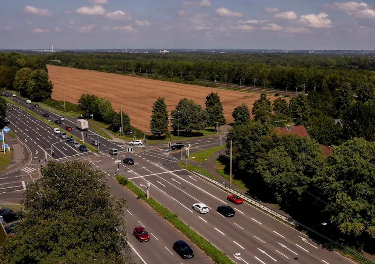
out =
[[194,230],[192,230],[189,225],[185,224],[180,218],[178,218],[176,213],[169,211],[162,204],[155,201],[152,197],[146,198],[145,192],[138,188],[135,184],[130,182],[124,176],[117,175],[115,178],[118,180],[118,183],[124,185],[127,189],[132,191],[137,195],[138,199],[142,199],[147,203],[153,210],[155,210],[160,216],[166,219],[171,223],[175,228],[180,230],[187,238],[190,239],[196,246],[198,246],[202,251],[204,251],[208,256],[210,256],[215,263],[218,264],[234,264],[233,261],[228,258],[223,252],[215,248],[209,241],[204,239]]

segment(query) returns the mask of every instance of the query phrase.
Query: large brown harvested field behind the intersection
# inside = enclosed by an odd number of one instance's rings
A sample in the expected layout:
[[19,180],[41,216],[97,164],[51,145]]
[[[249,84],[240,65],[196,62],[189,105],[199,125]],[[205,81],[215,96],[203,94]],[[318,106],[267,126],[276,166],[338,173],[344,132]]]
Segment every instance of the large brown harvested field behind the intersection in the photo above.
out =
[[[48,65],[49,78],[54,84],[52,99],[64,100],[77,104],[81,94],[95,94],[105,97],[113,104],[116,111],[123,106],[131,119],[132,125],[147,131],[150,129],[151,111],[154,101],[160,96],[165,98],[168,111],[174,109],[181,98],[191,98],[204,107],[205,97],[211,91],[220,95],[227,122],[233,121],[234,108],[246,103],[251,111],[252,104],[259,94],[242,91],[230,91],[189,84],[177,84],[145,78],[96,72],[68,67]],[[273,101],[277,97],[270,96]]]

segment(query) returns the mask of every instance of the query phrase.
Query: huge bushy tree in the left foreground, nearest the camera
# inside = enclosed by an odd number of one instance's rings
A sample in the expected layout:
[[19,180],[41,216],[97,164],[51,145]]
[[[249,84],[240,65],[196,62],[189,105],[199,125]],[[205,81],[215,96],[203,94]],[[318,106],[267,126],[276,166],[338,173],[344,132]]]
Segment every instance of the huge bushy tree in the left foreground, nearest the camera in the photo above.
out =
[[104,172],[52,161],[41,173],[24,193],[23,221],[0,248],[0,262],[127,263],[126,202],[110,194]]

